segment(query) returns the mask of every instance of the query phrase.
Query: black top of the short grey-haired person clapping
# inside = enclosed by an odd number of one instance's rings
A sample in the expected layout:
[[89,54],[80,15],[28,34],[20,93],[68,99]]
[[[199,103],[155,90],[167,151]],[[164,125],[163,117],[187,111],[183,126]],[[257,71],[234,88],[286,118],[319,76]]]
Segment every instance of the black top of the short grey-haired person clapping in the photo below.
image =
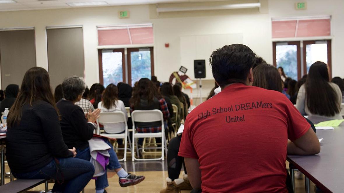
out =
[[61,114],[61,130],[68,148],[85,149],[93,136],[95,126],[88,123],[84,111],[72,101],[60,100],[57,108]]

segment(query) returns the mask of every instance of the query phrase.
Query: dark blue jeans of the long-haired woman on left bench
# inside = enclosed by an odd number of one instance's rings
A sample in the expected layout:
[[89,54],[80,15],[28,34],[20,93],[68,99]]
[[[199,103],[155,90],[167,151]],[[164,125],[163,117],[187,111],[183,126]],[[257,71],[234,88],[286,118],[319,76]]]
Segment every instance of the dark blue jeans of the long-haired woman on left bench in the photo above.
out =
[[[53,159],[41,169],[27,173],[13,172],[13,176],[18,179],[54,179],[56,182],[53,192],[56,193],[82,191],[93,177],[94,166],[89,161],[78,158],[57,158],[57,160],[60,162],[61,173],[56,172],[56,161]],[[60,184],[58,181],[63,183]]]

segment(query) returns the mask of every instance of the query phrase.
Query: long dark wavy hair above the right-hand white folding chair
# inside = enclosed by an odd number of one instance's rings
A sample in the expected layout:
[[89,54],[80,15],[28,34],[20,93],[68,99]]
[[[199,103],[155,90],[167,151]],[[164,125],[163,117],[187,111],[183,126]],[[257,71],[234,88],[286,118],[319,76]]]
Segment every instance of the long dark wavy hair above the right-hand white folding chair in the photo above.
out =
[[129,100],[130,104],[138,105],[140,104],[140,99],[147,100],[148,102],[153,101],[153,99],[161,99],[161,95],[158,89],[151,80],[147,78],[142,78],[137,82],[137,85],[133,89],[132,98]]

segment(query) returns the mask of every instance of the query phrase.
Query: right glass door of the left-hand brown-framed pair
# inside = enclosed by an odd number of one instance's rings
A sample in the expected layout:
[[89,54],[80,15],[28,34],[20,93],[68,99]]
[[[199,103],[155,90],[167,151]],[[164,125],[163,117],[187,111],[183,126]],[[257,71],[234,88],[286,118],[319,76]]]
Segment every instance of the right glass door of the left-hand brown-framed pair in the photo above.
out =
[[134,84],[141,78],[151,79],[154,75],[153,47],[128,48],[128,84]]

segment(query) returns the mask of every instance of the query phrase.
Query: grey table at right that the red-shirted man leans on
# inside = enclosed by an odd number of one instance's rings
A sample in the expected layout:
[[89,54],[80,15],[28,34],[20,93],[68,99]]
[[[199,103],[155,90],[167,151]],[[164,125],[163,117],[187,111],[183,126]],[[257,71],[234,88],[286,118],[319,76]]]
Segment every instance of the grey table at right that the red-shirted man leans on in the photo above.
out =
[[287,160],[323,191],[344,192],[344,123],[334,130],[318,130],[316,135],[323,138],[319,154],[288,155]]

